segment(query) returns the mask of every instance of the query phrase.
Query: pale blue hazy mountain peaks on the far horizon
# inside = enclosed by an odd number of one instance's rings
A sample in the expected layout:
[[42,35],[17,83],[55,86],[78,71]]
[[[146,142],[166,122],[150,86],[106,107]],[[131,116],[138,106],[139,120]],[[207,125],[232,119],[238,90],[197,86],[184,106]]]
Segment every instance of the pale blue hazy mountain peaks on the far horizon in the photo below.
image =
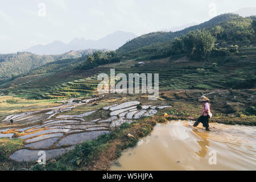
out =
[[65,44],[59,40],[42,45],[38,44],[23,51],[35,53],[37,55],[60,55],[71,50],[78,51],[82,49],[109,49],[115,50],[125,44],[127,41],[136,38],[137,35],[131,32],[115,31],[112,34],[98,40],[85,40],[84,38],[75,38]]

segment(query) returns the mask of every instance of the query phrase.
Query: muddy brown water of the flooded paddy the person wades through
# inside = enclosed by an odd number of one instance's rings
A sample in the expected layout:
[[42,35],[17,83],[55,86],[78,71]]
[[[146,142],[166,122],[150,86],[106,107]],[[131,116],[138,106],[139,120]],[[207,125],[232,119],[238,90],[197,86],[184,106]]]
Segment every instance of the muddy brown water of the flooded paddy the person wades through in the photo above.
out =
[[256,127],[171,121],[122,152],[111,170],[256,170]]

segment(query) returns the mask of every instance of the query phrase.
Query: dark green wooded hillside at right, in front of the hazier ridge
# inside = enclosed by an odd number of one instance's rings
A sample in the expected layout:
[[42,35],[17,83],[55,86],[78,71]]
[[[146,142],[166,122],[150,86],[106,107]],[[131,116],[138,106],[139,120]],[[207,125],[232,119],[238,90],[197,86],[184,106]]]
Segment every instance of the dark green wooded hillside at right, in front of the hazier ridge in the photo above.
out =
[[[186,51],[188,51],[187,54],[189,56],[191,55],[191,53],[196,53],[197,49],[201,50],[201,46],[208,45],[210,41],[200,36],[207,34],[209,35],[209,33],[216,39],[214,41],[215,46],[213,46],[214,52],[225,52],[226,49],[233,49],[233,46],[254,47],[254,45],[256,44],[255,26],[256,16],[250,16],[247,18],[237,16],[237,18],[217,23],[215,26],[203,27],[201,28],[201,30],[191,31],[188,34],[180,36],[179,38],[175,38],[174,40],[168,40],[160,43],[152,43],[149,46],[140,47],[138,49],[134,49],[133,51],[125,51],[118,53],[125,57],[124,60],[137,61],[160,59],[163,57],[173,56],[179,53],[185,53]],[[203,34],[201,34],[200,31],[202,31]],[[197,33],[199,34],[197,35]],[[208,35],[207,38],[212,39],[211,36]],[[191,41],[188,42],[187,40]],[[201,42],[202,40],[204,40],[204,43]],[[201,46],[199,45],[200,42],[202,43]],[[193,44],[193,51],[189,53],[190,48],[187,48],[189,47],[190,44]]]

